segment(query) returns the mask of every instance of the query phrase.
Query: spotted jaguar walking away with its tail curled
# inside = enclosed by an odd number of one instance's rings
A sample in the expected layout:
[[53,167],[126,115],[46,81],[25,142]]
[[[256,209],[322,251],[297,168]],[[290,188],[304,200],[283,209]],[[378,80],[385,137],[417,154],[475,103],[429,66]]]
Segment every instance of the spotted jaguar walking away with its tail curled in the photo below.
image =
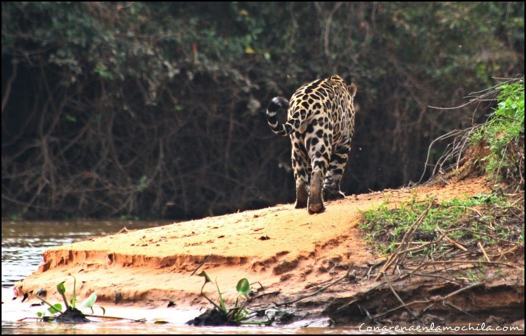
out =
[[[354,97],[358,87],[338,75],[302,85],[290,97],[274,97],[266,110],[267,123],[278,135],[290,136],[296,180],[296,208],[309,213],[325,210],[323,202],[345,198],[341,177],[355,126]],[[277,113],[287,110],[287,121]]]

